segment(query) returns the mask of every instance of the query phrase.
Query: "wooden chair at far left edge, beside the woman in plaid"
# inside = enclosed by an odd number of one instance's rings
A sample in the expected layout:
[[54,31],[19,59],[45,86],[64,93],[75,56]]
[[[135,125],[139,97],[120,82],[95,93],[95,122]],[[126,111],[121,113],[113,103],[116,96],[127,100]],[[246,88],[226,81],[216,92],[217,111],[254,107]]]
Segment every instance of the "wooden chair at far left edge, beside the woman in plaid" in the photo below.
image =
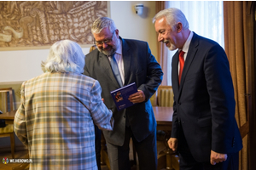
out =
[[[13,89],[0,88],[0,94],[2,95],[1,111],[3,112],[14,111]],[[6,127],[0,127],[0,138],[2,137],[10,138],[12,157],[13,159],[15,159],[15,133],[14,133],[13,124],[7,124]]]

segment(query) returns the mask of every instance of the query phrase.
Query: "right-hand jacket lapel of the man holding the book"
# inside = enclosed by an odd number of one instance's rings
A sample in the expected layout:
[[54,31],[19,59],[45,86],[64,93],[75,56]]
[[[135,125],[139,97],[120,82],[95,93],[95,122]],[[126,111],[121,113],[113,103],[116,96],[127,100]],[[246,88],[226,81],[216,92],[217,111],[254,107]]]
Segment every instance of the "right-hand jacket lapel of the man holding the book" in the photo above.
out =
[[123,61],[124,61],[124,70],[125,70],[125,85],[128,84],[129,81],[129,75],[131,75],[131,54],[129,53],[130,47],[125,42],[124,39],[122,39],[122,55],[123,55]]

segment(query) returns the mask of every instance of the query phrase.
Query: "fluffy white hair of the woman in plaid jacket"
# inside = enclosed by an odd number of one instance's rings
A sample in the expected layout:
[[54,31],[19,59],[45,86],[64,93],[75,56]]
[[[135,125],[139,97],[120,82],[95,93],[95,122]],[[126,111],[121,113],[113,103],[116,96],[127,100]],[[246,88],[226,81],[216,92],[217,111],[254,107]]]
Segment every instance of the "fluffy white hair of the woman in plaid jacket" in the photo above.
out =
[[44,72],[76,72],[83,73],[85,56],[77,42],[61,40],[49,48],[46,61],[42,61]]

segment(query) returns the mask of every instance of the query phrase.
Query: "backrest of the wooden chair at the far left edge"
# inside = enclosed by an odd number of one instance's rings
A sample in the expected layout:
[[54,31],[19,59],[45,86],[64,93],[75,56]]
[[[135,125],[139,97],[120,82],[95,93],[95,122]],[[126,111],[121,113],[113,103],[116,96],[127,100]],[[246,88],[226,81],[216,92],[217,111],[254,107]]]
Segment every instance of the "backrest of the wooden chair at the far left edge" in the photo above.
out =
[[14,111],[14,98],[12,88],[0,88],[1,105],[0,111]]

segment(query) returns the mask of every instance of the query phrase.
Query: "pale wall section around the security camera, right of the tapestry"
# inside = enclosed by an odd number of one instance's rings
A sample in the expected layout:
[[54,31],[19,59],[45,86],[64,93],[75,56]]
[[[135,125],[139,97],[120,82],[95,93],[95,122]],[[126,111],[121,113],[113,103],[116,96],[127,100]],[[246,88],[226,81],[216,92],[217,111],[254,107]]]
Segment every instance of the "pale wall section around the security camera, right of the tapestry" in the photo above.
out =
[[[134,5],[143,3],[143,15],[135,13]],[[110,5],[111,18],[119,29],[119,36],[148,42],[152,54],[156,56],[156,32],[152,19],[155,1],[116,1]]]

